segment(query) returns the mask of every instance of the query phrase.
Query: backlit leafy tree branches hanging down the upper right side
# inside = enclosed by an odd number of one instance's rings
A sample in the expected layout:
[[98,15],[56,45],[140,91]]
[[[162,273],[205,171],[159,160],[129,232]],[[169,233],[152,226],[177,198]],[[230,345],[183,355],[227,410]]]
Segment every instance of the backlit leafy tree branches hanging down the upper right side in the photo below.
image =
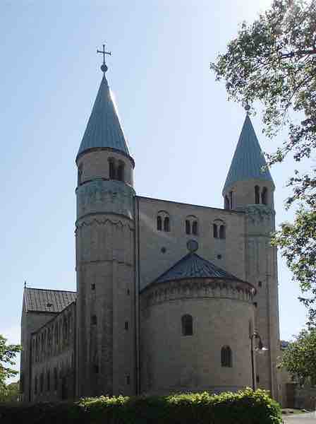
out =
[[[274,0],[252,24],[242,23],[227,51],[211,63],[217,81],[226,82],[231,100],[242,105],[260,102],[263,132],[269,137],[286,129],[283,145],[267,155],[268,165],[288,153],[296,162],[312,158],[316,147],[316,1]],[[252,109],[253,111],[253,109]],[[308,166],[310,168],[310,165]],[[289,176],[293,188],[286,207],[298,201],[293,224],[274,237],[293,278],[307,297],[310,324],[316,302],[316,172],[311,168]],[[308,293],[306,293],[308,292]]]

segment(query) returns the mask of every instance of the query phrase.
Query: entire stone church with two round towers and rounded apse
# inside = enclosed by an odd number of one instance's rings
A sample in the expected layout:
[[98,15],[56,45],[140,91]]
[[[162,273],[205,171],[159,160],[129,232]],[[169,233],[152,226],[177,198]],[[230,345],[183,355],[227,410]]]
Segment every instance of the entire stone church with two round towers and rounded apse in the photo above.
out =
[[75,158],[77,290],[24,289],[23,401],[252,386],[280,399],[275,187],[248,111],[223,208],[138,196],[101,69]]

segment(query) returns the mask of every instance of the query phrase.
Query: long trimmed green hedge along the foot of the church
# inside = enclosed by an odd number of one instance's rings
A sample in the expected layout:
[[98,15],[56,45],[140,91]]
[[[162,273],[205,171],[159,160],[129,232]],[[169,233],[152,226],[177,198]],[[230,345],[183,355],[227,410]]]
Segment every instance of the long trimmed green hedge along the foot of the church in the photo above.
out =
[[[23,420],[23,422],[21,421]],[[75,403],[0,404],[1,424],[281,424],[267,391],[80,399]]]

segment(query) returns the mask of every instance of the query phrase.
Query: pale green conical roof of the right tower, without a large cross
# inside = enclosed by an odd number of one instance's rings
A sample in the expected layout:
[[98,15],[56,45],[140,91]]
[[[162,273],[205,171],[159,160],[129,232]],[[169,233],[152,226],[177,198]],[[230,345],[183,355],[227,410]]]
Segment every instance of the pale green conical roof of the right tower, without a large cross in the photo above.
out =
[[253,124],[247,114],[224,184],[223,193],[235,182],[248,179],[262,179],[271,181],[274,184],[269,170],[265,169],[262,172],[262,167],[266,165],[265,156],[262,153]]

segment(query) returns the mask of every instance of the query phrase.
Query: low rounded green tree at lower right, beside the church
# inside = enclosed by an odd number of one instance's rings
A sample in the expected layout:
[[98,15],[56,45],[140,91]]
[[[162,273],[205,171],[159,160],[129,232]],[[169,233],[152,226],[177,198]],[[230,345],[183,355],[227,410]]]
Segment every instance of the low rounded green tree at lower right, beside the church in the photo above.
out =
[[284,367],[299,382],[316,382],[316,329],[303,330],[288,343],[279,367]]

